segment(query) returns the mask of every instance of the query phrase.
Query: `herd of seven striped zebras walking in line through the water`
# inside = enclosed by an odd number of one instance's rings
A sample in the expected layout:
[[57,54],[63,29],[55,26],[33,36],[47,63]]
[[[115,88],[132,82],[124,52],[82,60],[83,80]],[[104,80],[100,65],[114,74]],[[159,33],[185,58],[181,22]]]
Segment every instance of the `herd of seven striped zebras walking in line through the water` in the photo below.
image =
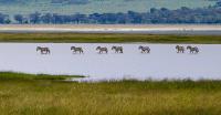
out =
[[[191,45],[188,45],[186,48],[187,50],[189,50],[190,53],[199,53],[199,49],[197,46],[191,46]],[[176,50],[177,50],[177,53],[185,53],[186,51],[185,46],[181,46],[181,45],[176,45]],[[124,49],[123,46],[112,46],[112,50],[115,52],[115,53],[124,53]],[[138,46],[138,50],[140,51],[140,53],[150,53],[150,48],[149,46]],[[42,46],[36,46],[36,52],[41,52],[41,54],[50,54],[51,51],[49,48],[42,48]],[[80,53],[80,54],[83,54],[84,53],[84,50],[83,48],[77,48],[77,46],[71,46],[71,51],[73,53]],[[102,53],[108,53],[108,49],[106,46],[97,46],[96,48],[96,51],[102,54]]]

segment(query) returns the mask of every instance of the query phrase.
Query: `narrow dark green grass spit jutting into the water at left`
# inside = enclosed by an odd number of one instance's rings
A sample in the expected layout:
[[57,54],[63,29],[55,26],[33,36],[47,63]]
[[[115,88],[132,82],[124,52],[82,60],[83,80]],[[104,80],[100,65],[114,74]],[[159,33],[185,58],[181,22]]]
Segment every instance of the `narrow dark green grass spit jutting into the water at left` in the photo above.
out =
[[73,79],[73,77],[83,77],[83,76],[0,72],[0,81],[1,80],[69,80],[69,79]]

